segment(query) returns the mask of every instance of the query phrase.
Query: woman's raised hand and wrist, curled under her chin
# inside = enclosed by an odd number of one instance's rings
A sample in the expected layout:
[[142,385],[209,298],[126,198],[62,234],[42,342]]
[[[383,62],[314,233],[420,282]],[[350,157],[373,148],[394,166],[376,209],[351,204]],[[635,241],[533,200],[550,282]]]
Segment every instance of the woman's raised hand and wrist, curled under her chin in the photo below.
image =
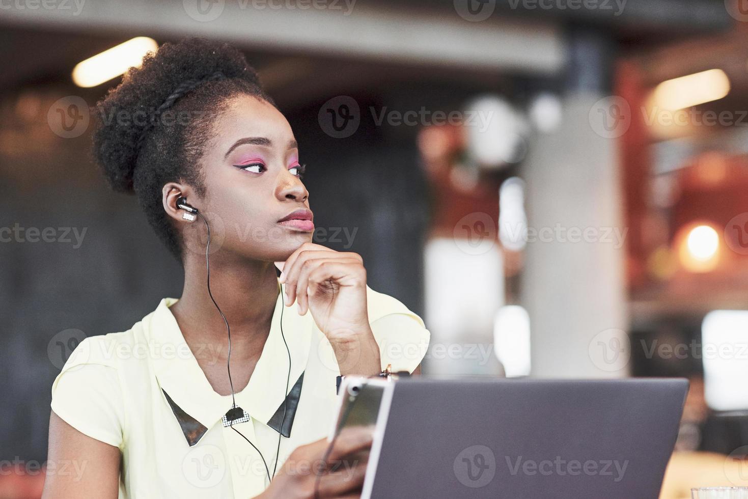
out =
[[381,371],[379,348],[369,325],[367,271],[358,253],[305,242],[283,263],[284,303],[309,310],[335,352],[340,373],[370,376]]

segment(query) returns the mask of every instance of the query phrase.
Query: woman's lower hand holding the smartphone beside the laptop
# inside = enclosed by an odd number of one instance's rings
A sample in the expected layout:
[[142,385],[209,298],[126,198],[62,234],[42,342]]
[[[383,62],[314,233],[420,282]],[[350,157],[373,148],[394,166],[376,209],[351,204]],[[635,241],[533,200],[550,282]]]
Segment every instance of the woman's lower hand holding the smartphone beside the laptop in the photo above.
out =
[[372,434],[373,426],[343,428],[322,470],[327,438],[297,447],[256,499],[312,499],[315,488],[319,498],[361,497]]

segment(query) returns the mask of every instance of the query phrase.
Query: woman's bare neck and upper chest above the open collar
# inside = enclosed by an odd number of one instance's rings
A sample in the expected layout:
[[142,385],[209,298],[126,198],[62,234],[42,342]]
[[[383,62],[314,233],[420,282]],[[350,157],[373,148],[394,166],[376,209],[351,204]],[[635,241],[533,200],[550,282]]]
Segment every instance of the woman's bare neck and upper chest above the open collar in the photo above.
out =
[[[205,260],[187,258],[182,296],[170,307],[185,340],[211,361],[227,356],[227,331],[221,314],[210,299],[206,285]],[[262,353],[278,301],[275,265],[257,260],[237,263],[210,262],[210,290],[231,327],[231,358],[256,360]],[[200,358],[198,358],[198,361]],[[204,359],[203,359],[204,360]]]

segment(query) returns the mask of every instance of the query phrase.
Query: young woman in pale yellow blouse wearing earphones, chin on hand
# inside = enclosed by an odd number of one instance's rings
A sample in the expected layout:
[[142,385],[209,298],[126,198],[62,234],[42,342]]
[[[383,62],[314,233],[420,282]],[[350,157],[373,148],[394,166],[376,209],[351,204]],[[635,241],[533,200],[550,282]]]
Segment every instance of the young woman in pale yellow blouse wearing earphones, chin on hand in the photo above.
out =
[[43,497],[357,497],[371,432],[328,449],[337,382],[419,372],[429,331],[358,254],[311,242],[298,147],[257,74],[226,44],[166,43],[94,114],[97,162],[184,289],[73,352]]

